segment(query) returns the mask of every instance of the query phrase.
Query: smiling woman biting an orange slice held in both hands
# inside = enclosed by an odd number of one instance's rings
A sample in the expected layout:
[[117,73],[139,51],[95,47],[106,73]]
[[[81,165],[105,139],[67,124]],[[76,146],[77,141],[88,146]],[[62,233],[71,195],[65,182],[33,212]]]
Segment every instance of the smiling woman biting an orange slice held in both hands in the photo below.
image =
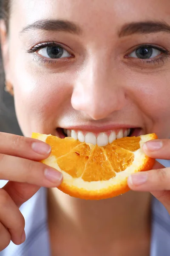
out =
[[125,195],[79,200],[55,188],[61,174],[38,162],[51,149],[28,137],[155,132],[144,151],[169,160],[169,0],[3,0],[3,14],[6,87],[26,137],[0,134],[0,255],[168,256],[169,168],[130,176]]

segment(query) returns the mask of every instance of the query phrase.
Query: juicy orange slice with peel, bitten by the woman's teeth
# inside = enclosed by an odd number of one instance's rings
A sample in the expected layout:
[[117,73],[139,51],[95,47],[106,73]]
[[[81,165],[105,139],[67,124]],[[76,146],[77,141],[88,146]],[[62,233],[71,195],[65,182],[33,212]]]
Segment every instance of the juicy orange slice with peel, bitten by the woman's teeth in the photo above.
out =
[[127,177],[151,169],[155,161],[144,154],[142,145],[156,139],[156,134],[125,137],[104,147],[71,137],[33,133],[32,138],[51,145],[51,154],[42,163],[62,172],[59,189],[82,199],[111,198],[127,192]]

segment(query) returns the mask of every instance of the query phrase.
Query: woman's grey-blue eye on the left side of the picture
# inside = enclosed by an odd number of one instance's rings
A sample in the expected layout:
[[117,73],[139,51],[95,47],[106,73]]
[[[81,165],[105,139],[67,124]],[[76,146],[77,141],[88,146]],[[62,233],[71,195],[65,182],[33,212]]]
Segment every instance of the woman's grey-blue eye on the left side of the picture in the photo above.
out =
[[63,49],[59,45],[47,46],[37,51],[45,58],[67,58],[70,57],[70,53]]

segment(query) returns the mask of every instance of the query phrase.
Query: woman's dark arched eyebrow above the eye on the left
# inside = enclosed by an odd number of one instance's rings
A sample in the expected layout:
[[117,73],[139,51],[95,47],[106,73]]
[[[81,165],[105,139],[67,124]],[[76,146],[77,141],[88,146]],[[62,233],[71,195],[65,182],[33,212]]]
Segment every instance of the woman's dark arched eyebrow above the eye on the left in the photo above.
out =
[[52,32],[64,31],[74,34],[80,34],[82,32],[77,24],[68,20],[37,20],[34,23],[25,26],[20,33],[35,29],[48,30]]

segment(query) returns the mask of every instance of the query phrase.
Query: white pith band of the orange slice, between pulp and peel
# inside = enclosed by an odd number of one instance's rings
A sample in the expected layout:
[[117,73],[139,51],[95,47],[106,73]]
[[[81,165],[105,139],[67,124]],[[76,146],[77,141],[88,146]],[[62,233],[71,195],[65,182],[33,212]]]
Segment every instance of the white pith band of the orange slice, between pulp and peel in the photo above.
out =
[[[46,138],[49,135],[43,135],[42,137],[40,136],[38,139],[42,140],[42,141],[46,141]],[[110,180],[102,180],[102,181],[84,181],[82,180],[81,177],[79,178],[73,178],[71,175],[69,175],[68,173],[65,173],[64,171],[62,171],[58,164],[57,164],[57,160],[54,156],[50,156],[47,159],[45,159],[43,161],[43,163],[47,164],[48,166],[51,166],[55,169],[57,169],[59,172],[62,172],[63,174],[63,183],[65,183],[67,186],[75,186],[78,189],[85,189],[86,191],[100,191],[100,190],[105,190],[105,189],[109,189],[112,188],[114,186],[117,186],[117,184],[123,184],[125,182],[125,180],[127,179],[127,177],[135,172],[138,172],[140,166],[143,166],[144,163],[144,159],[145,159],[145,154],[142,151],[142,145],[148,141],[151,140],[152,137],[150,136],[150,134],[147,134],[145,136],[141,136],[141,140],[140,140],[140,148],[134,152],[134,161],[133,163],[127,167],[127,169],[125,169],[125,171],[122,172],[115,172],[116,176],[114,176],[113,178],[111,178]]]

